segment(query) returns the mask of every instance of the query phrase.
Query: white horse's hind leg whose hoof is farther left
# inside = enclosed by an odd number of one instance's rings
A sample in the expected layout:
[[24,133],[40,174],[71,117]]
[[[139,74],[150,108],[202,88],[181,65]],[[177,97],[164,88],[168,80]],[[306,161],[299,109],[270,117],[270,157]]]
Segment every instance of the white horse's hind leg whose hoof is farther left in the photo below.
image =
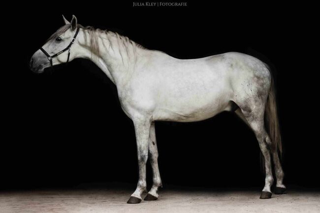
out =
[[[259,101],[258,101],[259,103]],[[248,104],[248,102],[247,102]],[[241,105],[239,106],[241,108]],[[245,109],[245,110],[244,110]],[[252,110],[253,109],[253,110]],[[265,167],[265,185],[261,192],[261,199],[271,198],[271,185],[273,184],[272,168],[271,168],[271,141],[268,140],[268,134],[264,128],[264,104],[252,104],[251,106],[243,106],[241,112],[245,120],[248,122],[256,135],[259,142],[260,150],[264,157]],[[238,114],[238,113],[237,113]]]

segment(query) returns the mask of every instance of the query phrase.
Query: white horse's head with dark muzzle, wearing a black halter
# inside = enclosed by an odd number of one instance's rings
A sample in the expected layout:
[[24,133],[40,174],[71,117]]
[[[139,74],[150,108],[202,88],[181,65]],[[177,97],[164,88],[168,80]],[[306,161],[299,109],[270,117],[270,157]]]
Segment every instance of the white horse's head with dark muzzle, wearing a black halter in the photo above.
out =
[[46,67],[74,59],[70,52],[71,46],[73,48],[75,46],[79,31],[77,18],[73,16],[71,23],[64,18],[64,23],[65,25],[51,35],[47,42],[33,54],[30,60],[30,69],[33,72],[42,73]]

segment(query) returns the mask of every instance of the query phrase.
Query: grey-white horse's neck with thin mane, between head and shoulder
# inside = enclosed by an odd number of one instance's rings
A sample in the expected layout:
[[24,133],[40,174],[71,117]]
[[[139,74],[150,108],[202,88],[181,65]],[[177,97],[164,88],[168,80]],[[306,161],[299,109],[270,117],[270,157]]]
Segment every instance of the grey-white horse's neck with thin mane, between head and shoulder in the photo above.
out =
[[80,58],[87,58],[94,63],[109,77],[109,79],[116,85],[121,85],[126,82],[130,73],[134,71],[139,58],[146,55],[144,50],[138,47],[133,41],[117,34],[95,32],[97,34],[96,45],[99,48],[99,54],[92,52],[94,45],[91,42],[91,37],[87,31],[86,38],[84,35],[83,46],[84,50],[79,54]]

